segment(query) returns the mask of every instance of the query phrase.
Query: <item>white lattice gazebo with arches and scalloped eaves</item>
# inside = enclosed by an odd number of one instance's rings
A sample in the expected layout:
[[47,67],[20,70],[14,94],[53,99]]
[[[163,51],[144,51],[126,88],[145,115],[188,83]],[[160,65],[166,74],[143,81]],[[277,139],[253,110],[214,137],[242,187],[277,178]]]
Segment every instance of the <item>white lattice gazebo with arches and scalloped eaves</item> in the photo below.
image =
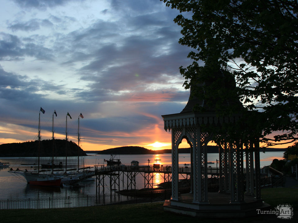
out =
[[[222,71],[219,71],[217,75],[224,78]],[[240,101],[237,103],[239,111],[242,111],[242,103]],[[196,112],[195,106],[203,109]],[[208,106],[204,100],[190,97],[182,112],[162,115],[165,130],[172,132],[172,197],[165,203],[166,211],[206,217],[210,217],[209,213],[212,211],[213,217],[243,217],[251,215],[251,212],[256,214],[256,207],[260,209],[267,205],[260,197],[258,139],[251,140],[247,145],[243,145],[240,139],[235,139],[233,142],[217,142],[219,146],[219,193],[208,192],[207,143],[210,140],[216,140],[216,135],[212,132],[204,132],[202,126],[221,127],[224,123],[236,123],[241,117],[239,111],[235,111],[230,116],[219,117],[215,108]],[[178,146],[183,138],[187,139],[191,145],[192,187],[187,195],[179,195],[178,192]],[[245,177],[244,156],[246,156]],[[246,180],[246,186],[244,186],[244,180]]]

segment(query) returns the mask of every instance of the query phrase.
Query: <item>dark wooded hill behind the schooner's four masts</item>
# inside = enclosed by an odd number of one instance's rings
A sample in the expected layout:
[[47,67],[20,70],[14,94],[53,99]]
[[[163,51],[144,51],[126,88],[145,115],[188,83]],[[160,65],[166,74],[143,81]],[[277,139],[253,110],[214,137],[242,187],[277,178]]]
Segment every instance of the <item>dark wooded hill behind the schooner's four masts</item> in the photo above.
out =
[[[75,142],[67,141],[67,156],[86,156],[86,152],[78,147]],[[52,156],[52,140],[46,139],[40,141],[40,156]],[[66,140],[54,140],[54,156],[65,156]],[[37,157],[38,156],[38,140],[30,142],[6,143],[0,145],[0,157]]]

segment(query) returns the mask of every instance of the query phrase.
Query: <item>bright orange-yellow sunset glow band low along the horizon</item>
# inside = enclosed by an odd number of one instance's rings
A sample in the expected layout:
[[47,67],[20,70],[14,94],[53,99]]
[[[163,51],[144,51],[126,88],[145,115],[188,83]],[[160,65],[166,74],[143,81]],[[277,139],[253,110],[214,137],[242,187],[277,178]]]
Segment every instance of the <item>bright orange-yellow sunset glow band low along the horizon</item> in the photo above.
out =
[[[86,133],[82,135],[80,141],[80,147],[84,151],[102,151],[106,149],[121,147],[121,146],[140,146],[149,150],[163,150],[171,149],[171,132],[163,129],[164,123],[159,116],[152,115],[146,112],[138,112],[138,114],[145,117],[150,117],[154,121],[151,125],[147,125],[142,129],[138,129],[132,132],[104,132],[97,129],[82,128],[82,132]],[[26,121],[24,121],[26,122]],[[18,143],[26,141],[34,141],[37,139],[37,130],[35,128],[24,127],[17,124],[7,124],[0,126],[0,133],[3,136],[7,134],[7,138],[0,138],[0,144],[4,143]],[[87,133],[92,133],[93,137],[88,137]],[[65,133],[56,133],[56,139],[65,139]],[[97,137],[98,136],[98,137]],[[69,140],[77,143],[78,139],[75,134],[68,135]],[[51,131],[42,131],[42,139],[51,139]],[[216,145],[214,142],[208,142],[208,145]],[[270,148],[287,148],[293,145],[293,143],[271,146]],[[260,146],[265,146],[264,143],[260,143]],[[185,139],[179,144],[179,148],[189,148],[189,144]]]

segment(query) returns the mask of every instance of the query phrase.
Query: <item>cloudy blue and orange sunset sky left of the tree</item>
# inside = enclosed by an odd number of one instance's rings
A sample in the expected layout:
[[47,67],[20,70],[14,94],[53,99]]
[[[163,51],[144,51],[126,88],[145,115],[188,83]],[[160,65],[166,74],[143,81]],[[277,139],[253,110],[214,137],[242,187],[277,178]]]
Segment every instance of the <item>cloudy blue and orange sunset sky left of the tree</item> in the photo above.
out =
[[[161,115],[189,97],[179,73],[189,48],[178,44],[178,11],[159,0],[1,0],[0,144],[37,139],[103,150],[170,148]],[[156,146],[156,147],[154,147]]]

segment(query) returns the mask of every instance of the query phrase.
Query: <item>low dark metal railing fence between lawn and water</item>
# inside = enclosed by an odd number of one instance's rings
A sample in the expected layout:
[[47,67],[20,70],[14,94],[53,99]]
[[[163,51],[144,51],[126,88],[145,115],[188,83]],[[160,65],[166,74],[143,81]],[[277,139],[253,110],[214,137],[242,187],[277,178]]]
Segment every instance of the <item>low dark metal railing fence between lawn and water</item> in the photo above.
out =
[[[179,188],[180,193],[188,193],[189,191],[189,187]],[[166,189],[104,195],[1,199],[0,209],[77,208],[99,205],[148,203],[170,199],[171,195],[172,190]]]

